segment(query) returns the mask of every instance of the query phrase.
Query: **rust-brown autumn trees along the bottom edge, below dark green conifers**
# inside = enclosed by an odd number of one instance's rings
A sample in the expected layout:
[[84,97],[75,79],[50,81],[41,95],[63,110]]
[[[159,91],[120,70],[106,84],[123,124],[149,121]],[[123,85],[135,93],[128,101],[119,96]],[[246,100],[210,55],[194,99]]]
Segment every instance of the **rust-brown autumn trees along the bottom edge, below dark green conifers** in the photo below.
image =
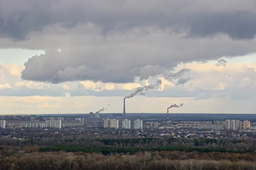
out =
[[[0,167],[1,170],[254,170],[256,167],[254,161],[240,160],[239,154],[218,153],[215,157],[203,154],[201,160],[188,159],[184,153],[177,160],[177,154],[144,152],[104,156],[99,153],[18,152],[0,159]],[[219,157],[233,159],[212,160]]]

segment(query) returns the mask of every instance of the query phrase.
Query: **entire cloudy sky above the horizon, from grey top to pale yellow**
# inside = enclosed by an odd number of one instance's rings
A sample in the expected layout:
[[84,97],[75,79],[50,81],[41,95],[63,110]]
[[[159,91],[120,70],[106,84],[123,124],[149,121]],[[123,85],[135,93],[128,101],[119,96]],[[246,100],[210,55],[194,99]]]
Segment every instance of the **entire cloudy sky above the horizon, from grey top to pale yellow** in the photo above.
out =
[[0,114],[122,113],[124,97],[127,113],[256,111],[255,0],[13,4],[0,0]]

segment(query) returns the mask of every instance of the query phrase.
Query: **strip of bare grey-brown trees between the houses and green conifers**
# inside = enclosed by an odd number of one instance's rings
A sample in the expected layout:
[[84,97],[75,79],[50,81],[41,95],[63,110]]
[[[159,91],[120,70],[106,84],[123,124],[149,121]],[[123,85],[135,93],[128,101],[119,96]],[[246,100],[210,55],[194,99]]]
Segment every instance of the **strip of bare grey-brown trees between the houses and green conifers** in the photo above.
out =
[[6,146],[55,146],[55,145],[89,145],[98,146],[116,146],[116,147],[216,147],[227,149],[253,149],[256,150],[256,139],[235,140],[235,139],[176,139],[166,138],[129,138],[129,139],[71,139],[71,138],[30,138],[15,140],[11,138],[1,138],[0,145]]

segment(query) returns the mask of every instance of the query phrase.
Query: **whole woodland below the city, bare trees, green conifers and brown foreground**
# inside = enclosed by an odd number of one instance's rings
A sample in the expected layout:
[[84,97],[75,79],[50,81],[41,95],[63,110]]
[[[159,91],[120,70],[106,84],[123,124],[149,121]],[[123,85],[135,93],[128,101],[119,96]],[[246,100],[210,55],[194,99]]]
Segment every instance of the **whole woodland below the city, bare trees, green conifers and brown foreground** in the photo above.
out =
[[0,170],[255,170],[256,139],[0,138]]

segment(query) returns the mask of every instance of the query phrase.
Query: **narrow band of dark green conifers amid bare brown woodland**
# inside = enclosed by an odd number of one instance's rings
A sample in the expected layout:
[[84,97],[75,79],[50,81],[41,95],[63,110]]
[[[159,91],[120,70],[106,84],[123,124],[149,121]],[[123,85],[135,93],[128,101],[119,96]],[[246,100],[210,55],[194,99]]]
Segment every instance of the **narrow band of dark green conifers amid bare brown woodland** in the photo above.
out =
[[221,152],[221,153],[252,153],[253,150],[233,150],[224,148],[213,148],[213,147],[169,147],[169,146],[159,146],[159,147],[110,147],[102,146],[98,148],[93,148],[90,146],[81,145],[58,145],[49,147],[39,147],[39,152],[48,151],[65,151],[65,152],[86,152],[86,153],[137,153],[137,152],[152,152],[152,151],[181,151],[181,152],[193,152],[197,151],[199,153],[209,153],[209,152]]

